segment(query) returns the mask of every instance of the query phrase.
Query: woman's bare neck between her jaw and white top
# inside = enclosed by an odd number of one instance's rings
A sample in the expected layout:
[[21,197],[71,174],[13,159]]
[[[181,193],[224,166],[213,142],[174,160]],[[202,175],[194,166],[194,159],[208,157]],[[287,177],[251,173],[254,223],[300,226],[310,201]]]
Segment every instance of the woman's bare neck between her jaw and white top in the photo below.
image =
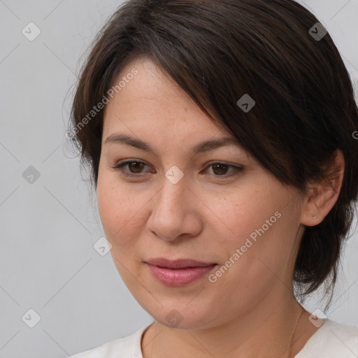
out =
[[250,312],[213,327],[173,329],[156,321],[143,335],[143,357],[292,358],[308,339],[308,326],[297,318],[309,313],[293,295],[287,297],[287,287],[282,293],[286,296],[266,297]]

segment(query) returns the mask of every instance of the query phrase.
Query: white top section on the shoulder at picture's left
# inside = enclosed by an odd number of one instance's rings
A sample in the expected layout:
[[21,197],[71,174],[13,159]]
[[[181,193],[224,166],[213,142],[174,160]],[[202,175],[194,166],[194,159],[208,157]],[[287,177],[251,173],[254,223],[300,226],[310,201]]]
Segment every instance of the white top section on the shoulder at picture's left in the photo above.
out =
[[130,336],[118,338],[97,348],[71,355],[72,358],[140,358],[142,334],[150,326],[147,324]]

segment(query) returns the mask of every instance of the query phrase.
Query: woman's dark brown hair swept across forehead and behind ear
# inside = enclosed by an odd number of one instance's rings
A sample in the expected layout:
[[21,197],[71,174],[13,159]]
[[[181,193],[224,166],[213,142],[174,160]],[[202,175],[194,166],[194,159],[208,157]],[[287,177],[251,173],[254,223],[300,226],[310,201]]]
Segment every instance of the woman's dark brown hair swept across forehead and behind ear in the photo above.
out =
[[[334,175],[326,164],[342,150],[338,200],[301,239],[293,277],[301,302],[323,282],[332,298],[358,188],[353,87],[331,36],[310,33],[318,31],[317,22],[292,0],[129,0],[94,39],[71,110],[73,141],[95,186],[103,110],[88,114],[108,96],[124,65],[141,56],[173,78],[278,180],[302,192],[308,182]],[[256,102],[247,113],[237,104],[244,94]]]

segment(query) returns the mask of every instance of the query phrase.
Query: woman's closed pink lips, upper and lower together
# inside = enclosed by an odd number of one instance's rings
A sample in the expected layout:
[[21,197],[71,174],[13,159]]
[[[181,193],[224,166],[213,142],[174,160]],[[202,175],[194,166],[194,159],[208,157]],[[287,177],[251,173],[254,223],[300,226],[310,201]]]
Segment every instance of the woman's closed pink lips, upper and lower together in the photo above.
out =
[[182,287],[199,280],[217,265],[192,259],[151,259],[145,264],[159,282],[174,287]]

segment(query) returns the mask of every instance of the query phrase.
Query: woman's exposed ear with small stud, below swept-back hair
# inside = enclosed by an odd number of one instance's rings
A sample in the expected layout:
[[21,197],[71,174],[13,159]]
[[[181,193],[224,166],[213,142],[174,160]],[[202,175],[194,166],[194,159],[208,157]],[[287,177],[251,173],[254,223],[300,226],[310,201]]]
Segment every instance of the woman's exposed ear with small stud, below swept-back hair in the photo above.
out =
[[333,159],[329,164],[329,170],[334,169],[336,169],[334,178],[324,178],[310,187],[303,201],[301,224],[308,227],[320,224],[334,207],[341,191],[345,169],[344,156],[339,149],[334,152]]

